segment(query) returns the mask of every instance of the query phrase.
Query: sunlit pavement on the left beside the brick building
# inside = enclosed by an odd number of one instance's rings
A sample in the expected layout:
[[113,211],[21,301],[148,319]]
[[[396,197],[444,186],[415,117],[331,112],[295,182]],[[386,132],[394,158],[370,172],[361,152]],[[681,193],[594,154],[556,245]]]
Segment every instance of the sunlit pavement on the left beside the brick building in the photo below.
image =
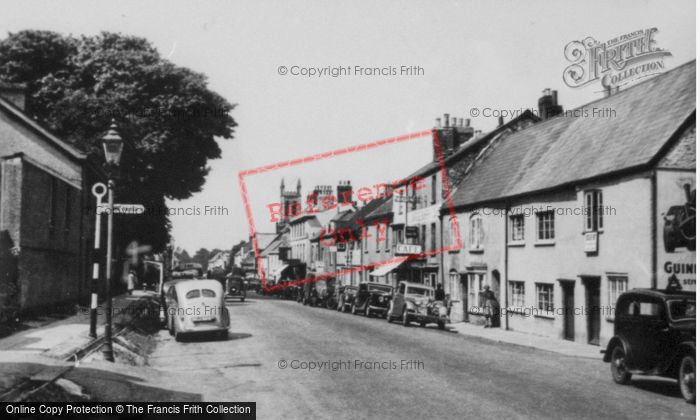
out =
[[[152,292],[136,291],[132,296],[113,298],[114,325],[125,324],[134,315],[130,311],[116,311],[130,306],[140,299],[153,296]],[[49,317],[50,318],[50,317]],[[104,334],[104,311],[98,310],[97,336]],[[36,325],[32,327],[32,325]],[[67,358],[94,344],[89,335],[90,310],[80,308],[77,314],[41,322],[27,322],[27,329],[0,339],[0,400],[27,380],[42,381],[74,366]],[[113,330],[115,331],[116,328]],[[75,358],[75,357],[74,357]]]

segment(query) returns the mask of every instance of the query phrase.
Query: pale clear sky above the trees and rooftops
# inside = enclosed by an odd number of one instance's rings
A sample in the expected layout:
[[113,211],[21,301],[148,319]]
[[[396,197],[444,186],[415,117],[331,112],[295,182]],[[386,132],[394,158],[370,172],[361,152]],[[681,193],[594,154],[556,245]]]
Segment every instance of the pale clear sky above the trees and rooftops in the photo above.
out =
[[[497,124],[484,108],[536,108],[545,88],[564,109],[598,99],[599,84],[570,88],[564,47],[658,28],[671,69],[695,59],[693,1],[2,1],[0,35],[23,29],[147,38],[177,65],[204,73],[209,87],[237,104],[233,140],[220,140],[201,192],[173,201],[199,215],[171,218],[175,245],[230,248],[248,238],[239,172],[421,132],[449,113],[477,130]],[[286,74],[281,74],[285,66]],[[293,69],[418,66],[415,75],[290,74]],[[469,116],[470,110],[481,110]],[[509,118],[506,118],[508,120]],[[272,231],[266,205],[301,179],[350,180],[355,188],[410,174],[432,159],[417,138],[245,177],[255,228]],[[209,214],[204,214],[209,209]]]

